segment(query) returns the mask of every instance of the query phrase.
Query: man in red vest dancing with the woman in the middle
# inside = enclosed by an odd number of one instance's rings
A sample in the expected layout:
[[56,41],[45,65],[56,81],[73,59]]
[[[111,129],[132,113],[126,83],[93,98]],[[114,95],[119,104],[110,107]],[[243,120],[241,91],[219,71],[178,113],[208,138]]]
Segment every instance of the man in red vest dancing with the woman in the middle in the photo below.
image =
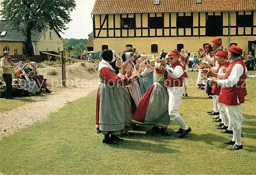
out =
[[[171,117],[180,125],[179,131],[180,138],[185,137],[191,129],[187,126],[184,119],[181,117],[178,109],[180,108],[180,102],[183,94],[183,68],[179,62],[181,55],[178,51],[172,51],[168,54],[168,58],[160,60],[161,65],[167,71],[166,87],[169,96],[168,112]],[[167,62],[171,66],[167,65]]]

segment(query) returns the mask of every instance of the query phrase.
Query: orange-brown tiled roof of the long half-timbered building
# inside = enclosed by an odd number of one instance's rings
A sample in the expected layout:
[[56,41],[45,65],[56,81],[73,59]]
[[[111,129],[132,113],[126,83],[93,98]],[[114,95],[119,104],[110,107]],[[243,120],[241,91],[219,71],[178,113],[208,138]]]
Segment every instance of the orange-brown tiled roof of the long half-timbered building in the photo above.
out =
[[256,10],[255,0],[96,0],[92,14]]

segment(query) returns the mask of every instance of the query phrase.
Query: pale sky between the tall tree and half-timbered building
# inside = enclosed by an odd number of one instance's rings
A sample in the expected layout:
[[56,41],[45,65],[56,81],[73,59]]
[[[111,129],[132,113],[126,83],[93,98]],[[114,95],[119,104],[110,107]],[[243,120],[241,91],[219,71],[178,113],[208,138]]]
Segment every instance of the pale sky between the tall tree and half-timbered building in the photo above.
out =
[[95,0],[75,0],[76,9],[71,13],[72,21],[67,24],[69,28],[65,33],[60,33],[62,38],[88,38],[93,31],[91,12]]

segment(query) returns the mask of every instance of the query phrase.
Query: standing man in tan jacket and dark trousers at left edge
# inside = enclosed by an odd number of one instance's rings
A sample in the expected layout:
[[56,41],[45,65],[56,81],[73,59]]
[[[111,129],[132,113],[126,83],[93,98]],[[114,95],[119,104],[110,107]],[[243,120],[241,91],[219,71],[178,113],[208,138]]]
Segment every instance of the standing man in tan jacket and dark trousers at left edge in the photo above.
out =
[[10,53],[4,52],[4,57],[1,59],[1,67],[3,69],[3,79],[6,83],[6,99],[12,99],[12,71],[14,64],[10,60]]

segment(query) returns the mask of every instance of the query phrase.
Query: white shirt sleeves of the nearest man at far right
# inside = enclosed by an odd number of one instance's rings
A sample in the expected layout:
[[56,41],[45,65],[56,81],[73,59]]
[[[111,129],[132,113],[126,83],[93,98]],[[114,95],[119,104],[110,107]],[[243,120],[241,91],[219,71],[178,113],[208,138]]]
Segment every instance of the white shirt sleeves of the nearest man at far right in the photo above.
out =
[[[233,66],[228,78],[225,80],[218,80],[217,84],[219,86],[223,86],[223,87],[233,87],[234,85],[236,85],[238,83],[243,72],[244,72],[244,68],[243,68],[242,64],[236,64]],[[245,72],[247,73],[246,67],[245,67]],[[223,77],[223,76],[225,76],[224,73],[218,72],[218,77]]]

